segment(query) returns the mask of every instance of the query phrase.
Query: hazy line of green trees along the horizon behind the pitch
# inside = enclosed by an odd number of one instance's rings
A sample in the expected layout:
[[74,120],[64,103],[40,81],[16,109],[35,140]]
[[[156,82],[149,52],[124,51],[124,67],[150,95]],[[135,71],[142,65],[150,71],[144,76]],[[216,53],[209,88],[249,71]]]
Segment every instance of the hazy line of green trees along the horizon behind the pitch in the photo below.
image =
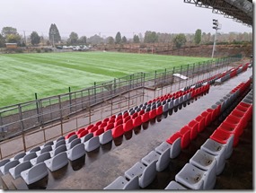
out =
[[[117,32],[115,37],[109,36],[102,38],[101,35],[93,35],[87,38],[85,35],[79,37],[75,31],[72,31],[68,39],[61,39],[57,25],[52,23],[49,27],[49,38],[40,36],[37,31],[32,31],[28,37],[22,36],[13,27],[4,27],[0,33],[0,48],[5,47],[5,43],[17,43],[18,46],[37,46],[48,45],[55,46],[56,44],[71,45],[85,45],[85,44],[127,44],[127,43],[171,43],[176,48],[181,48],[184,45],[199,45],[199,44],[212,44],[215,34],[202,32],[200,29],[195,33],[173,34],[161,33],[156,31],[146,31],[142,33],[133,34],[132,39],[122,36],[120,31]],[[252,32],[235,33],[229,32],[217,33],[217,42],[223,44],[251,42]]]

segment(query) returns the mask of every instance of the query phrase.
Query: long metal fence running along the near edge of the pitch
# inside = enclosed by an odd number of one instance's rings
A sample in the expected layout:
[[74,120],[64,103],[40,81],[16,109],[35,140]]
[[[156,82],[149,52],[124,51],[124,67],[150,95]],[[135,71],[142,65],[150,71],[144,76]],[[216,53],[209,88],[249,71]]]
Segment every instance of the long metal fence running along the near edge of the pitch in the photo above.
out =
[[0,140],[17,136],[32,128],[45,127],[48,124],[72,118],[97,104],[138,88],[155,89],[181,81],[174,74],[185,75],[190,79],[195,75],[228,66],[239,59],[239,57],[223,57],[215,61],[209,60],[198,64],[163,69],[161,72],[141,72],[110,82],[94,83],[93,86],[83,90],[0,108]]

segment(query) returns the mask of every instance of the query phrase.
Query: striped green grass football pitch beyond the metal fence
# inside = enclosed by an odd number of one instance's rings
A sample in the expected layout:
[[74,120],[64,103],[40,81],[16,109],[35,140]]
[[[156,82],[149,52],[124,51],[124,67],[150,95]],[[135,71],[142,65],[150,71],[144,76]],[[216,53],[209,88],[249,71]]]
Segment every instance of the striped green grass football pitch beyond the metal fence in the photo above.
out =
[[163,71],[205,61],[207,57],[173,57],[113,52],[66,52],[0,55],[0,107],[92,86],[94,82],[137,72]]

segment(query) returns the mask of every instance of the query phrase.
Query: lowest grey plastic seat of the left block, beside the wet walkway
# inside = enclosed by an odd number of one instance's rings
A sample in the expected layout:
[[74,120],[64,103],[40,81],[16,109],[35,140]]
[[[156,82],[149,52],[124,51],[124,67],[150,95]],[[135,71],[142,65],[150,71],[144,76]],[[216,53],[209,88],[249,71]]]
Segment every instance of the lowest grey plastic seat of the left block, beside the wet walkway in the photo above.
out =
[[44,162],[32,166],[30,169],[21,172],[22,179],[30,185],[48,175],[48,170]]

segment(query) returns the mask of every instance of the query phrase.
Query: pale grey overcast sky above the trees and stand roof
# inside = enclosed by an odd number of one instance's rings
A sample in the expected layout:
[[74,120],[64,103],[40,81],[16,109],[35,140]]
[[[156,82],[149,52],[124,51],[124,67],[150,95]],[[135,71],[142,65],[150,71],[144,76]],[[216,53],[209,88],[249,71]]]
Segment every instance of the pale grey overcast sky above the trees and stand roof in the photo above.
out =
[[48,36],[51,23],[56,23],[62,37],[72,31],[79,37],[115,37],[119,31],[127,38],[146,31],[214,33],[212,19],[222,24],[219,32],[252,32],[212,9],[183,0],[0,0],[0,5],[0,30],[10,26],[27,35],[37,31]]

